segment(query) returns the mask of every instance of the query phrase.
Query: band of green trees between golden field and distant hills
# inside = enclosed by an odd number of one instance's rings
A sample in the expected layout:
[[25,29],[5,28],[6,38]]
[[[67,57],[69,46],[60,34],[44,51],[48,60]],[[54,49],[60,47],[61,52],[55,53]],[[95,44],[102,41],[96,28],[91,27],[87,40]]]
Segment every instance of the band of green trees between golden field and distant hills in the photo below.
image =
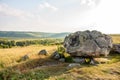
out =
[[40,39],[40,40],[0,40],[0,48],[11,48],[14,46],[29,46],[29,45],[60,45],[62,44],[62,39]]

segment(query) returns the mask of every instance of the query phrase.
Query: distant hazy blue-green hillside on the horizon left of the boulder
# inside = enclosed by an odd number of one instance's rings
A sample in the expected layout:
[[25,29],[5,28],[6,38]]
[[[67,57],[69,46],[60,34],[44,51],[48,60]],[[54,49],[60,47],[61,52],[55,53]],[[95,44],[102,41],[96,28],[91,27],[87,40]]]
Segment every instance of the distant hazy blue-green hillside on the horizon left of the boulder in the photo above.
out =
[[0,37],[7,38],[64,38],[69,33],[45,33],[24,31],[0,31]]

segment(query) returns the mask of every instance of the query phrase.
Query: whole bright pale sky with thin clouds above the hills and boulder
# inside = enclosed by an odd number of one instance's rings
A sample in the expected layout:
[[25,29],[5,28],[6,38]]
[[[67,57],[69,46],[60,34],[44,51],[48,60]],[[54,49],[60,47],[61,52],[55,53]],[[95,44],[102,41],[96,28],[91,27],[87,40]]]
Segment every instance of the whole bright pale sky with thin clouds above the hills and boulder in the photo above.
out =
[[0,31],[120,33],[120,0],[0,0]]

